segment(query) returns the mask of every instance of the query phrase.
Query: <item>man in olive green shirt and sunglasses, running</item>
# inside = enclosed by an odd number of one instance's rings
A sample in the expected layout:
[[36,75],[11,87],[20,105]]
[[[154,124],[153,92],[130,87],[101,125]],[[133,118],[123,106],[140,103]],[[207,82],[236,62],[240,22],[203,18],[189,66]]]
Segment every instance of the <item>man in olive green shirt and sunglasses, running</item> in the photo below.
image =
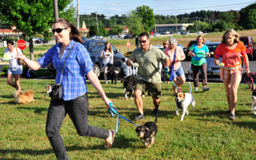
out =
[[[152,96],[155,109],[153,113],[158,112],[161,92],[161,68],[159,63],[170,65],[170,60],[160,49],[150,45],[148,33],[141,33],[139,36],[140,47],[135,49],[126,64],[132,66],[138,63],[138,75],[136,76],[134,102],[138,108],[139,114],[135,116],[136,120],[145,118],[143,115],[143,100],[141,93],[147,87],[148,95]],[[168,68],[169,70],[169,68]]]

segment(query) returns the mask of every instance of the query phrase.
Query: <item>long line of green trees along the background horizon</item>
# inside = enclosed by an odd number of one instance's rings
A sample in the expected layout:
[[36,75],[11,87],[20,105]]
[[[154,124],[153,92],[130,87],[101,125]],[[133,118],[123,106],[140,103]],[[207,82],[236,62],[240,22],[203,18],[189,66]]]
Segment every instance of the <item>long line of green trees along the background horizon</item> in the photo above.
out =
[[[110,35],[118,35],[123,26],[127,26],[132,35],[136,36],[141,31],[150,31],[155,24],[182,24],[193,23],[189,26],[190,31],[217,32],[228,28],[236,30],[256,28],[256,3],[250,4],[240,11],[230,10],[227,12],[200,10],[180,15],[154,15],[149,6],[139,6],[127,15],[114,15],[109,19],[105,15],[97,15],[99,35],[106,35],[104,28],[111,28]],[[90,35],[97,35],[96,13],[80,15],[81,23],[84,21],[90,28]]]

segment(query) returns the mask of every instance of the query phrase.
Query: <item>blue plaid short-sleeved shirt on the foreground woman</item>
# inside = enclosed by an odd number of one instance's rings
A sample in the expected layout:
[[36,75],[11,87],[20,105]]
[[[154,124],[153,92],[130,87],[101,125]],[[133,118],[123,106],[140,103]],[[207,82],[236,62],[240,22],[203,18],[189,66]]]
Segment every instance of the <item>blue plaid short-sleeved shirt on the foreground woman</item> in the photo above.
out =
[[[44,68],[49,63],[54,65],[57,74],[55,83],[60,83],[61,71],[63,63],[68,54],[68,51],[76,42],[71,40],[63,55],[59,58],[61,44],[56,44],[49,49],[41,58],[37,60],[39,65]],[[85,75],[93,68],[93,63],[87,49],[82,44],[77,42],[70,52],[65,68],[63,71],[61,85],[63,88],[63,100],[72,100],[79,97],[83,93],[87,93]]]

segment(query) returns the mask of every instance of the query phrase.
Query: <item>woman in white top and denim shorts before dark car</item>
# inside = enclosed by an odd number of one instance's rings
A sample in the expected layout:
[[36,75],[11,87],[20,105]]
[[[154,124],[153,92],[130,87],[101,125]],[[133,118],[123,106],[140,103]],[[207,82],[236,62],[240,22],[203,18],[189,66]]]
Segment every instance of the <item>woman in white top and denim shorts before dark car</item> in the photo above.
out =
[[108,65],[113,64],[114,52],[111,49],[110,42],[105,43],[105,49],[102,50],[100,54],[100,58],[102,58],[102,67],[104,69],[104,79],[105,83],[108,84]]

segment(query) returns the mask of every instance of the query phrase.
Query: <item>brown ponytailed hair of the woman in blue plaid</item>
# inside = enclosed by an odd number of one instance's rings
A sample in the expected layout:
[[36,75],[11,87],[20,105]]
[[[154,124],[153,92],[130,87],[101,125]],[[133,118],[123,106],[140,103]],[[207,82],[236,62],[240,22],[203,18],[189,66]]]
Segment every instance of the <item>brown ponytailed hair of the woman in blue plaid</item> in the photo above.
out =
[[53,24],[56,24],[56,23],[61,23],[62,26],[71,29],[71,31],[70,31],[70,33],[69,33],[69,39],[70,39],[70,40],[73,39],[74,41],[79,42],[79,43],[81,43],[81,44],[84,43],[83,40],[82,40],[82,38],[81,38],[81,35],[79,34],[78,29],[76,28],[76,26],[75,26],[74,24],[72,24],[71,22],[69,22],[69,20],[63,19],[63,18],[61,18],[61,19],[56,19],[56,20],[54,20]]

